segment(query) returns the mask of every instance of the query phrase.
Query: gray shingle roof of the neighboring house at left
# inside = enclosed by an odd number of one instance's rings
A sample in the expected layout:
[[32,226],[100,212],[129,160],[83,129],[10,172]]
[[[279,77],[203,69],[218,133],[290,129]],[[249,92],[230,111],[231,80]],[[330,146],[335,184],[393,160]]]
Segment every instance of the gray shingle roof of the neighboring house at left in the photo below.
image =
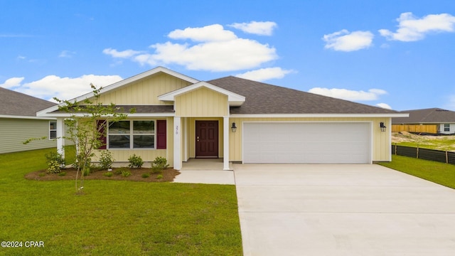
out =
[[36,117],[36,112],[53,105],[53,102],[0,87],[0,114]]

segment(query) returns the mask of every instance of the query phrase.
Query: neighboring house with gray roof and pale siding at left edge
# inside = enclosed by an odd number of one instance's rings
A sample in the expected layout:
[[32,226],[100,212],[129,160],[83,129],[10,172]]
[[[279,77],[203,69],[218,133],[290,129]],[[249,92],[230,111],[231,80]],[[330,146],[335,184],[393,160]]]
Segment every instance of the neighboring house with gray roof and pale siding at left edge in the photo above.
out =
[[[56,119],[36,117],[55,103],[0,87],[0,154],[55,147]],[[29,144],[26,139],[41,138]]]

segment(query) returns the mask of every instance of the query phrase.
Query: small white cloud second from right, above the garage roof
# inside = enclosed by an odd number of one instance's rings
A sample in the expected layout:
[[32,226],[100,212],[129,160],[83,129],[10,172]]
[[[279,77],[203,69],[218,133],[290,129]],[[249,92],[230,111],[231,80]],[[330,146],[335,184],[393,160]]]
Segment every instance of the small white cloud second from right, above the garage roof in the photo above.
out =
[[368,48],[373,43],[373,33],[370,31],[354,31],[350,33],[346,29],[323,36],[326,41],[326,49],[353,51]]

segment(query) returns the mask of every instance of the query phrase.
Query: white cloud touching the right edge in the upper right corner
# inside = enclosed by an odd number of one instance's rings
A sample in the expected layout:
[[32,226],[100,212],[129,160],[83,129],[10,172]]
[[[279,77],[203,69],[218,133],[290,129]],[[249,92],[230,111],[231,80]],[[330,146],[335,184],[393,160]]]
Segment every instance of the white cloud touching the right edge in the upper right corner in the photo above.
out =
[[381,36],[387,40],[395,41],[419,41],[427,33],[432,32],[454,32],[455,16],[450,14],[430,14],[423,18],[416,18],[412,13],[407,12],[397,18],[398,29],[395,33],[387,29],[380,29]]

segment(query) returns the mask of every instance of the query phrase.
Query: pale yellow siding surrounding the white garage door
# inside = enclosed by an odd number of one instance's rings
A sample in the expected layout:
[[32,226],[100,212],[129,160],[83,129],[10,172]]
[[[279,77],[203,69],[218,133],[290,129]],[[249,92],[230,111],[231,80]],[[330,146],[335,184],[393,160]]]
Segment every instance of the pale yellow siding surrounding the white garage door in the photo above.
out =
[[[350,117],[350,118],[331,118],[331,117],[318,117],[318,118],[230,118],[230,123],[235,122],[237,125],[237,132],[230,132],[229,143],[230,161],[242,161],[242,122],[372,122],[373,126],[373,161],[391,161],[391,141],[390,141],[390,127],[391,120],[386,117]],[[384,122],[387,130],[381,132],[379,124]],[[336,131],[334,131],[336,132]]]

